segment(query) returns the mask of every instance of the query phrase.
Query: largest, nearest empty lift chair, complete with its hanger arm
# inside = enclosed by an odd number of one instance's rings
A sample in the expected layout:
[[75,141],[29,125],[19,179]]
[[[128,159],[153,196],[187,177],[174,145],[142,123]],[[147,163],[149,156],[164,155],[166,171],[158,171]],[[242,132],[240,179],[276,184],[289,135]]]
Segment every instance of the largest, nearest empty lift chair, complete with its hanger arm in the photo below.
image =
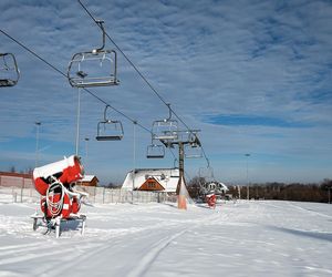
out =
[[117,85],[116,78],[116,52],[104,50],[105,30],[104,21],[97,21],[103,31],[103,45],[87,52],[73,55],[69,69],[68,80],[74,88],[93,88]]

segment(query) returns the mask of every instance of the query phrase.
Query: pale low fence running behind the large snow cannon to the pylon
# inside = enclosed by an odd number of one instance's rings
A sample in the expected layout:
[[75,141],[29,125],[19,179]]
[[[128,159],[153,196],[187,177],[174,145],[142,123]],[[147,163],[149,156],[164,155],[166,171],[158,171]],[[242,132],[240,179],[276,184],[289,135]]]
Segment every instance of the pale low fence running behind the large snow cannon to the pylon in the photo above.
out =
[[[174,195],[165,192],[141,192],[126,191],[118,188],[76,186],[77,191],[89,193],[89,203],[108,204],[108,203],[164,203],[175,202]],[[7,196],[6,198],[1,197]],[[39,202],[41,196],[34,188],[3,187],[0,186],[0,201],[7,202]]]

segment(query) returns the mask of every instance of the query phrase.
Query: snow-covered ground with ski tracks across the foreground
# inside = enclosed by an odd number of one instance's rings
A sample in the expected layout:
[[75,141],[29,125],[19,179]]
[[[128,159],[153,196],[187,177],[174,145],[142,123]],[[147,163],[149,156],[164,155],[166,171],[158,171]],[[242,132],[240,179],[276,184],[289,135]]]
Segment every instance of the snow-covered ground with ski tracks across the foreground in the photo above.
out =
[[332,205],[83,206],[81,236],[32,230],[35,203],[0,195],[0,276],[332,276]]

